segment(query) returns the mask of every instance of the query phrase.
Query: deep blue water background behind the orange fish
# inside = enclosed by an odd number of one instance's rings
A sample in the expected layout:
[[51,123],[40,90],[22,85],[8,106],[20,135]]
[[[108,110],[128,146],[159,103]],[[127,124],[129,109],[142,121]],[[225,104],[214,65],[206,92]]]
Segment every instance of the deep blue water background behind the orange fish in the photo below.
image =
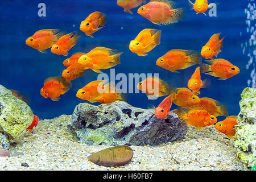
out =
[[[46,17],[38,16],[38,4],[46,3]],[[148,2],[148,1],[147,1]],[[30,107],[40,118],[53,118],[61,114],[72,114],[75,106],[81,102],[76,92],[90,81],[97,80],[98,73],[86,70],[84,76],[72,81],[72,88],[61,96],[59,102],[40,96],[44,79],[61,75],[63,60],[75,52],[89,52],[97,46],[115,48],[124,52],[121,64],[115,66],[115,73],[159,73],[159,77],[175,87],[187,87],[187,81],[198,65],[172,73],[155,65],[156,60],[170,49],[193,49],[201,51],[210,36],[221,32],[225,36],[224,47],[218,58],[229,60],[237,65],[241,72],[225,81],[217,80],[202,74],[202,78],[210,78],[212,84],[201,89],[200,97],[211,97],[227,105],[230,115],[240,111],[240,94],[247,86],[250,73],[246,70],[246,55],[243,55],[241,44],[249,39],[246,32],[247,1],[208,1],[217,3],[217,17],[196,15],[187,0],[179,1],[180,7],[187,7],[183,21],[170,26],[158,26],[132,9],[133,15],[123,12],[115,0],[104,1],[0,1],[0,84],[9,89],[19,90],[30,97]],[[82,20],[90,13],[101,11],[107,16],[107,23],[102,30],[94,34],[94,38],[86,36],[79,30]],[[34,32],[46,28],[60,28],[69,33],[81,33],[77,45],[69,51],[67,57],[41,53],[28,47],[25,40]],[[162,30],[161,44],[156,46],[148,56],[137,56],[129,50],[130,40],[144,28]],[[110,70],[103,70],[110,75]],[[147,104],[158,106],[164,97],[148,100],[146,94],[129,94],[128,103],[135,107],[147,108]],[[94,104],[98,105],[98,104]],[[175,105],[172,109],[175,109]]]

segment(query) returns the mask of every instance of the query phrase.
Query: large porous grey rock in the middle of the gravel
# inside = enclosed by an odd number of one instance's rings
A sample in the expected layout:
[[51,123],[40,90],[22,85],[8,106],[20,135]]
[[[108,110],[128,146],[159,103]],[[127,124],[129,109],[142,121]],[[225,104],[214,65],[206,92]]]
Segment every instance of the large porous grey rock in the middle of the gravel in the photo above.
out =
[[155,146],[183,139],[188,127],[174,113],[159,119],[151,110],[116,101],[77,105],[68,129],[86,144]]

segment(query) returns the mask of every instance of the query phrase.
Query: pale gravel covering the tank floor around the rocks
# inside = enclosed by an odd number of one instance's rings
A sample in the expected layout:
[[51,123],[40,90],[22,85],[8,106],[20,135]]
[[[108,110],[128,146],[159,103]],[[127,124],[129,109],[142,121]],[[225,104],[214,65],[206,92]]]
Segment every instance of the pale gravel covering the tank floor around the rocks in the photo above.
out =
[[[122,167],[97,166],[87,156],[110,146],[88,146],[69,133],[71,115],[39,122],[33,134],[0,157],[0,170],[243,170],[233,141],[214,129],[190,127],[185,139],[160,146],[130,146],[133,159]],[[22,154],[23,153],[23,154]]]

